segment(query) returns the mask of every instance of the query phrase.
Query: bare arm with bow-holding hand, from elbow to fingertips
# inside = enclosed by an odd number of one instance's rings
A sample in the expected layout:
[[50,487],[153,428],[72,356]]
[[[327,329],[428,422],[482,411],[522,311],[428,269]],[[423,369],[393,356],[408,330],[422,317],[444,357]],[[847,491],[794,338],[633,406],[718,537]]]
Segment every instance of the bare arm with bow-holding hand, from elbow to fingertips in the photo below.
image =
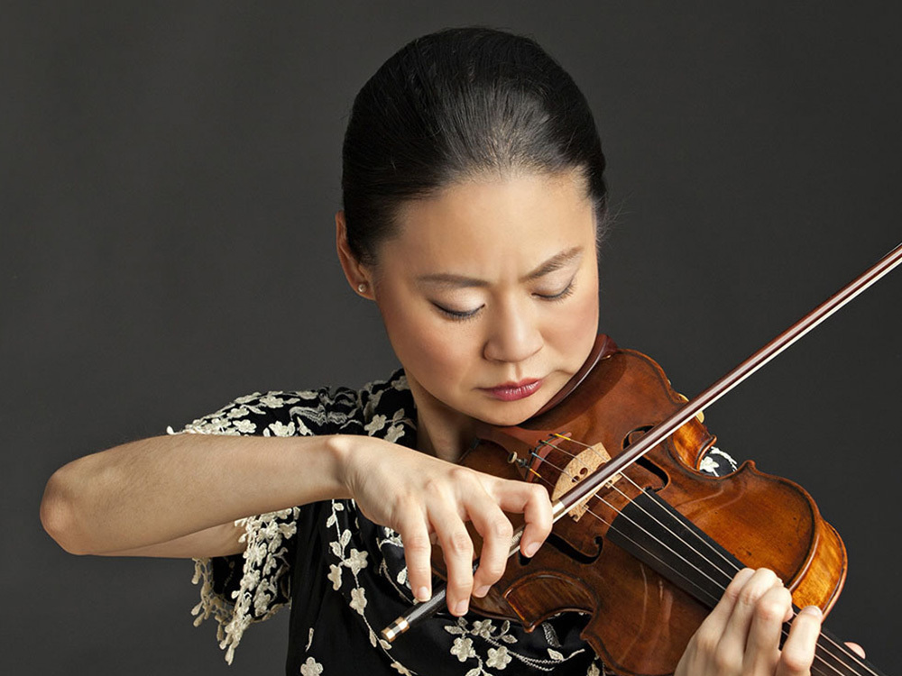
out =
[[[448,569],[448,608],[466,612],[504,571],[512,527],[532,555],[551,530],[548,492],[367,436],[181,434],[126,443],[57,470],[41,522],[71,553],[207,557],[237,553],[234,521],[328,498],[354,498],[375,523],[400,533],[419,598],[431,594],[429,534]],[[483,536],[474,576],[472,521]]]

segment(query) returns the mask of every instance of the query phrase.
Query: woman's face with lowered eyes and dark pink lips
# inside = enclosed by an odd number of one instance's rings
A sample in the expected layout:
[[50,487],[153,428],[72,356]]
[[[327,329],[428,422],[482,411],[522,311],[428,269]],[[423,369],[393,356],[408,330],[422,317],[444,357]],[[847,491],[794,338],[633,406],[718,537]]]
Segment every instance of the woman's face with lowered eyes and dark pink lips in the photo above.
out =
[[399,221],[380,245],[373,293],[414,393],[493,425],[535,414],[582,366],[597,333],[584,179],[457,183],[411,201]]

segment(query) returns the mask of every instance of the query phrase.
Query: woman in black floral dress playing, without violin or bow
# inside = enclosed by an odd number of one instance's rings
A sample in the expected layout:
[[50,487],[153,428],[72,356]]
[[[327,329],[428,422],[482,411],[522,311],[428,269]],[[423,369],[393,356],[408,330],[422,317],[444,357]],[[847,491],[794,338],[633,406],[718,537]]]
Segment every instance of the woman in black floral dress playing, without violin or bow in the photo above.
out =
[[[411,42],[354,102],[336,215],[348,283],[379,306],[403,370],[360,391],[241,397],[69,463],[45,528],[73,553],[198,559],[198,621],[216,617],[228,661],[290,600],[288,673],[601,672],[579,617],[527,635],[468,614],[504,569],[504,512],[524,515],[530,556],[551,510],[545,489],[455,462],[476,421],[529,418],[589,354],[603,169],[584,97],[534,42]],[[484,541],[475,572],[467,521]],[[379,629],[432,593],[433,542],[448,614],[384,643]],[[820,613],[801,612],[780,650],[790,600],[772,572],[741,571],[677,671],[806,673]]]

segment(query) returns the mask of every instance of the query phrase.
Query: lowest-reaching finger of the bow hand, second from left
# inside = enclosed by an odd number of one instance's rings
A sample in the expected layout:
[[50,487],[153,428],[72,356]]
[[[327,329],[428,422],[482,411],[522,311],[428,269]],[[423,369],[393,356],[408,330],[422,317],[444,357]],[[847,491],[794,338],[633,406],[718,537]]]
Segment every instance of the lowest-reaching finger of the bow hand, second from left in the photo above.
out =
[[456,509],[448,507],[445,500],[435,500],[429,506],[429,522],[445,557],[448,612],[465,615],[473,592],[473,541]]

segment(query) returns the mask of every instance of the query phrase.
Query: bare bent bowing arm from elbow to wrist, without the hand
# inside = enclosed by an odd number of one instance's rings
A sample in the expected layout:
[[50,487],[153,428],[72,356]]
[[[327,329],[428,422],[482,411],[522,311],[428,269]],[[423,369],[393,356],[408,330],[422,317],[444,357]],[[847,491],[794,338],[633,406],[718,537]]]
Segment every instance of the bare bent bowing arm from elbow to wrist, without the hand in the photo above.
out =
[[70,553],[240,552],[235,519],[350,497],[337,438],[178,434],[126,443],[57,470],[41,523]]

